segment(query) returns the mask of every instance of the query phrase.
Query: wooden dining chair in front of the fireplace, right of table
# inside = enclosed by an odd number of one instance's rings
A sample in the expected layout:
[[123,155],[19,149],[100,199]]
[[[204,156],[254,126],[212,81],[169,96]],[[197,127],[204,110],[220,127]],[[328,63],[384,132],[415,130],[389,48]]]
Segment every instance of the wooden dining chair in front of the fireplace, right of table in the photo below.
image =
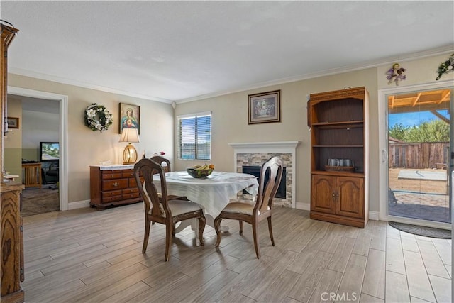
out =
[[[260,259],[260,247],[258,242],[258,224],[260,221],[268,220],[268,230],[272,246],[275,246],[275,239],[272,236],[272,203],[277,192],[277,188],[282,179],[282,161],[277,157],[272,157],[262,164],[260,168],[258,195],[255,204],[244,202],[231,202],[221,211],[221,214],[214,219],[216,235],[216,248],[221,243],[221,221],[222,219],[232,219],[240,221],[240,235],[243,234],[243,222],[251,224],[253,227],[253,238],[255,254]],[[265,184],[265,177],[268,177]]]

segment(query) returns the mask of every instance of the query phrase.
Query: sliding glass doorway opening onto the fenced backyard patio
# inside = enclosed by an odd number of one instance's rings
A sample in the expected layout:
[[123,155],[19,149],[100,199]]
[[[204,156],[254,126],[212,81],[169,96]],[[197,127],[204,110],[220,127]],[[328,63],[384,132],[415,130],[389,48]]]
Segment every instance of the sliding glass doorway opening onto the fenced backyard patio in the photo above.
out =
[[[427,85],[381,92],[380,217],[450,226],[452,88]],[[386,192],[386,194],[384,194]]]

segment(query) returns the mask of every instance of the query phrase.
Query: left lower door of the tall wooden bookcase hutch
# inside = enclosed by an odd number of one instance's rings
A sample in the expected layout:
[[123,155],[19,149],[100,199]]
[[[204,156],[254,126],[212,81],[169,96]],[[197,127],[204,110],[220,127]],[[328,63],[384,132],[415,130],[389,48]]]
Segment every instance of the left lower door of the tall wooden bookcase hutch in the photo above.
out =
[[336,213],[336,177],[312,175],[311,211]]

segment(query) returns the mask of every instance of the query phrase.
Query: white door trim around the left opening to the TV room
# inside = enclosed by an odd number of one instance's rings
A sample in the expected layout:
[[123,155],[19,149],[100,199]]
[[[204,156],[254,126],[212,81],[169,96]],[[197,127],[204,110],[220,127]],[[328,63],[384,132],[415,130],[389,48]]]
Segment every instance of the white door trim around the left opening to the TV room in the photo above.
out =
[[23,89],[20,87],[8,87],[8,94],[13,94],[21,97],[31,97],[36,99],[46,99],[58,102],[59,113],[59,129],[58,141],[60,143],[60,161],[58,167],[58,191],[60,201],[60,211],[66,211],[68,207],[68,177],[67,177],[67,108],[68,97],[61,94],[53,94],[50,92],[40,92],[32,89]]

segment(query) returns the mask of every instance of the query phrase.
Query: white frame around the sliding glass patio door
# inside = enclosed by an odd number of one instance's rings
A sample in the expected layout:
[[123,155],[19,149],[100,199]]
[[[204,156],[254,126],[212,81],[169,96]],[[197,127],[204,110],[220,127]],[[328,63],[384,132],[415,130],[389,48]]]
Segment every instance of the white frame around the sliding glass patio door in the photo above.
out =
[[[443,82],[433,82],[428,84],[417,84],[409,85],[406,87],[392,87],[389,89],[379,89],[378,90],[378,131],[379,131],[379,148],[380,148],[380,170],[379,170],[379,219],[382,221],[398,221],[406,224],[418,224],[421,226],[430,226],[436,228],[445,228],[451,229],[452,224],[436,222],[436,221],[426,221],[421,219],[410,219],[398,216],[389,216],[387,214],[387,203],[388,203],[388,155],[387,155],[387,138],[388,138],[388,125],[387,125],[387,96],[390,94],[404,94],[408,92],[415,92],[421,90],[436,90],[436,89],[453,89],[454,82],[443,81]],[[451,94],[450,107],[453,106],[453,94]],[[451,114],[452,115],[452,114]],[[451,123],[451,128],[453,123]],[[451,131],[450,144],[453,143],[453,132]],[[448,174],[450,177],[450,174]],[[452,187],[452,182],[450,182],[450,187]],[[451,198],[450,198],[451,199]]]

